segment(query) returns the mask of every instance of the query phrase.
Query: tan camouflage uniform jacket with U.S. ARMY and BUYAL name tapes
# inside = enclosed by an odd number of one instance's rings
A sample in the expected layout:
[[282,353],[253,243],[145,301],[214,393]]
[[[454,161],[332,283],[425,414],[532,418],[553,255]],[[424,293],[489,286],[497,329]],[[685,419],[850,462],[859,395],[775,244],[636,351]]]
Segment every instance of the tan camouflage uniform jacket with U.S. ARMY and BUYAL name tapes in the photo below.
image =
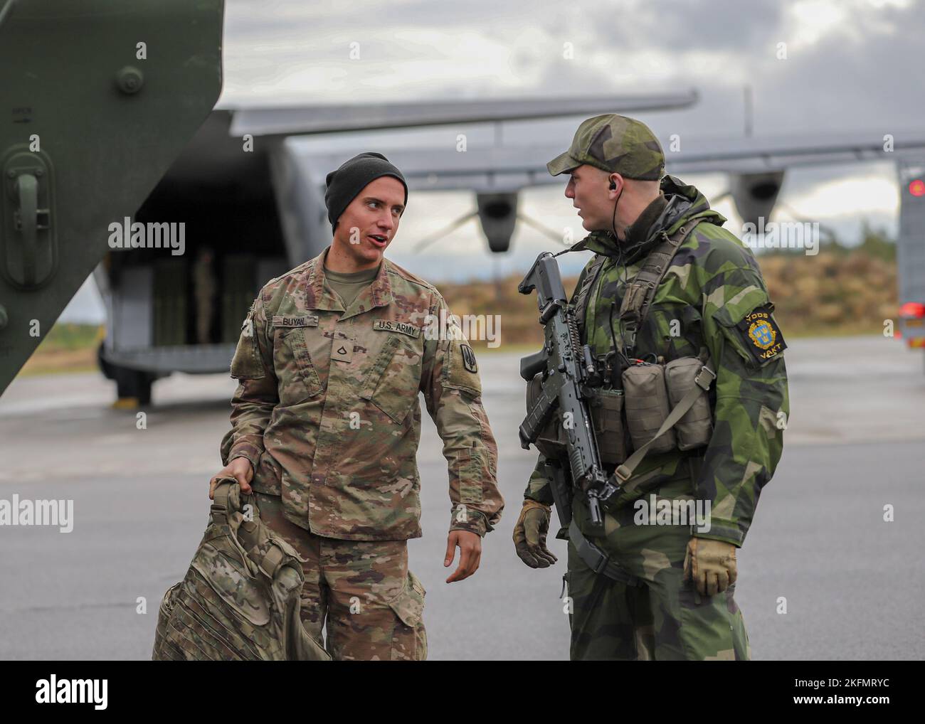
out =
[[344,310],[326,253],[271,279],[244,320],[222,462],[250,460],[253,489],[314,534],[419,537],[421,391],[450,467],[450,530],[484,535],[504,505],[498,448],[472,348],[458,326],[438,334],[446,301],[386,259]]

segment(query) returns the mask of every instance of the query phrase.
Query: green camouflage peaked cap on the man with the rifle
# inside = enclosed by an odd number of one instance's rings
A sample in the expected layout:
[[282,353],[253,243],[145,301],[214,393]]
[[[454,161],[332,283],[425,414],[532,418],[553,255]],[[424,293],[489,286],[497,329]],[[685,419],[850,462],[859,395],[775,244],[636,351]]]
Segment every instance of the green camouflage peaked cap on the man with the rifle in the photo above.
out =
[[624,178],[658,181],[665,173],[665,154],[645,123],[608,113],[584,121],[575,131],[572,147],[546,167],[552,176],[559,176],[583,164]]

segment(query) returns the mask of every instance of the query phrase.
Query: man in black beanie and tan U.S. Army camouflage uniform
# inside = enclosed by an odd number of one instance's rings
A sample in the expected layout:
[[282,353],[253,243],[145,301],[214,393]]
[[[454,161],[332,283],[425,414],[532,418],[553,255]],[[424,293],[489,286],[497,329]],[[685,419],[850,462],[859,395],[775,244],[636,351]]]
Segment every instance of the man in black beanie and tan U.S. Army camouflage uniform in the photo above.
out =
[[401,172],[360,154],[328,175],[326,201],[331,245],[271,279],[244,321],[212,484],[253,486],[261,519],[306,559],[302,618],[320,640],[327,617],[332,657],[423,659],[407,550],[421,535],[418,393],[449,463],[448,583],[475,572],[499,522],[498,448],[475,354],[458,325],[439,326],[446,301],[383,257],[407,202]]

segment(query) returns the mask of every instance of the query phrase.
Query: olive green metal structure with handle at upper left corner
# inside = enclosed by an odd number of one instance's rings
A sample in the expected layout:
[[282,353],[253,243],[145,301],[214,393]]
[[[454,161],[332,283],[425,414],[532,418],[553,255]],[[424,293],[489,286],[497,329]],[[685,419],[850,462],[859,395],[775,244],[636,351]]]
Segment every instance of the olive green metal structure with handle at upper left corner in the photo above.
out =
[[0,392],[211,113],[223,0],[0,0]]

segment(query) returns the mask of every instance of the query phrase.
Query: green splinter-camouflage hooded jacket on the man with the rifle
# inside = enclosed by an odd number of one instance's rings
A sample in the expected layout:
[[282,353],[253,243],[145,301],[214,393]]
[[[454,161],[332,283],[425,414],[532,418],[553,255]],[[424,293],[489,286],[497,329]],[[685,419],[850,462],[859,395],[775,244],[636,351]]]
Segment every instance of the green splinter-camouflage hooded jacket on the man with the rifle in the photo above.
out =
[[[633,240],[627,248],[620,250],[609,232],[600,231],[576,245],[596,252],[575,287],[577,293],[589,284],[582,342],[596,356],[613,349],[614,337],[618,349],[622,346],[624,280],[633,280],[661,231],[670,235],[701,219],[656,291],[636,337],[635,357],[654,353],[670,362],[709,350],[717,373],[710,390],[714,429],[706,448],[649,453],[627,481],[633,489],[623,490],[611,505],[626,506],[660,484],[693,472],[697,498],[709,500],[711,511],[709,533],[697,537],[741,546],[761,488],[771,480],[783,450],[783,427],[790,412],[783,335],[771,314],[773,304],[759,265],[742,242],[722,228],[726,219],[709,208],[696,188],[677,178],[663,178],[661,190],[667,201],[664,210],[648,230],[639,233],[631,227],[635,233],[628,235]],[[756,327],[761,320],[766,324]],[[525,497],[552,501],[542,456]],[[575,498],[574,516],[583,532],[594,534],[586,528],[582,496]]]

